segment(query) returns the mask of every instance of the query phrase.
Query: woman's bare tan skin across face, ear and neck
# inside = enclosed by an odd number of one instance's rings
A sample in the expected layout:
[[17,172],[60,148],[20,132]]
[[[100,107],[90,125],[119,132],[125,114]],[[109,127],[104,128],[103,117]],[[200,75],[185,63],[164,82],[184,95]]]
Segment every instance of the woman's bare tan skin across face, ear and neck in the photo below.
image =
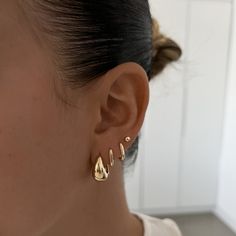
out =
[[[143,235],[118,157],[144,121],[145,71],[127,62],[84,89],[65,88],[15,1],[0,5],[0,236]],[[99,154],[109,163],[110,147],[115,166],[97,182],[92,167]]]

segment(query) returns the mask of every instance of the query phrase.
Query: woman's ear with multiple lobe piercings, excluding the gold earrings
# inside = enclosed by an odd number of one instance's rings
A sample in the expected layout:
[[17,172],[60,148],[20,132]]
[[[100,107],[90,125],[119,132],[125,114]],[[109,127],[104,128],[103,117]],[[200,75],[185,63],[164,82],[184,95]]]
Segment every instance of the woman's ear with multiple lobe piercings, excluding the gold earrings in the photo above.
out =
[[[142,127],[149,102],[149,81],[142,66],[127,62],[109,70],[96,87],[97,119],[91,153],[93,163],[102,155],[109,164],[109,148],[115,162],[121,156],[119,143],[125,151],[131,146]],[[131,137],[126,143],[124,138]]]

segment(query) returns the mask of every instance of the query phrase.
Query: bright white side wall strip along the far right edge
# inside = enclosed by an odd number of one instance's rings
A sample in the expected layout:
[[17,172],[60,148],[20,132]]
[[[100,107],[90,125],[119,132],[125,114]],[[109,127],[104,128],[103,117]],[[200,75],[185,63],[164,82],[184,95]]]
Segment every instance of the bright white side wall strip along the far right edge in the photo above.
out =
[[236,4],[233,6],[230,68],[220,163],[217,215],[236,231]]

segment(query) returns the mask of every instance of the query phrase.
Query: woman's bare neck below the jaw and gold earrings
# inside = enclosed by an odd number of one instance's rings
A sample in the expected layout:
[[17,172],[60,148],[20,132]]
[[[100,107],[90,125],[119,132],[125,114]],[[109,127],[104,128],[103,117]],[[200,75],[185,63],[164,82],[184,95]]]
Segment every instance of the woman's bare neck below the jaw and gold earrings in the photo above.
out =
[[128,209],[120,162],[113,166],[107,181],[88,177],[84,185],[63,216],[40,236],[144,235],[142,222]]

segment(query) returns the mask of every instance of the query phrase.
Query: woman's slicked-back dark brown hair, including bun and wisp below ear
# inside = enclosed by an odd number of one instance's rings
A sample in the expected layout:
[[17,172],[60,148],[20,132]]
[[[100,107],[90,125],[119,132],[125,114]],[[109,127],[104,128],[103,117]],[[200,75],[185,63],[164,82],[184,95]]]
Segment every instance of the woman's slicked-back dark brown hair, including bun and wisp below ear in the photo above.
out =
[[[151,80],[181,56],[180,47],[160,33],[148,0],[21,0],[21,6],[73,89],[128,61],[140,64]],[[136,160],[139,136],[126,152],[129,164]]]

